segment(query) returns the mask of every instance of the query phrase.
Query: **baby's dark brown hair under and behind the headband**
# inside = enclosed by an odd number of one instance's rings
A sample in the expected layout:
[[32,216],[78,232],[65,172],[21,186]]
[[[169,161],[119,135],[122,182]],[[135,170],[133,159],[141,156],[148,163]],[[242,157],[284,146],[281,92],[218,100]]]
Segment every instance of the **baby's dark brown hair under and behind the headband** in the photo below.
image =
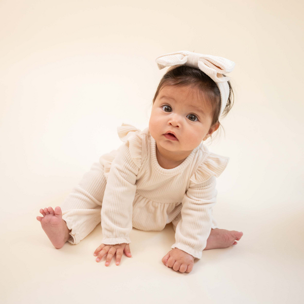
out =
[[[234,104],[234,92],[231,87],[230,81],[228,81],[227,83],[229,85],[230,92],[221,117],[226,117],[227,113],[231,110]],[[196,91],[201,94],[201,97],[206,100],[212,108],[213,118],[211,126],[215,125],[216,123],[221,126],[219,122],[219,112],[221,106],[219,89],[216,83],[202,70],[187,65],[180,65],[173,69],[169,69],[164,74],[158,85],[155,96],[153,98],[153,104],[157,96],[159,95],[161,89],[165,86],[190,87],[193,89],[198,89]]]

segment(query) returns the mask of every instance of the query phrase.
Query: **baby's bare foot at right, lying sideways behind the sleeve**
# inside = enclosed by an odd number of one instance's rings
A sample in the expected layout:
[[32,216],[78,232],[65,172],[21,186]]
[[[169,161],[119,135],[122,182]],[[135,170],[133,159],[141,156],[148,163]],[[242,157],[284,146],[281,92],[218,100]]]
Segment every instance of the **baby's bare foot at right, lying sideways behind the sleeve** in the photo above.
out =
[[236,241],[239,241],[243,236],[242,232],[229,231],[225,229],[211,229],[209,238],[207,240],[207,246],[204,250],[227,248],[232,245],[237,245]]

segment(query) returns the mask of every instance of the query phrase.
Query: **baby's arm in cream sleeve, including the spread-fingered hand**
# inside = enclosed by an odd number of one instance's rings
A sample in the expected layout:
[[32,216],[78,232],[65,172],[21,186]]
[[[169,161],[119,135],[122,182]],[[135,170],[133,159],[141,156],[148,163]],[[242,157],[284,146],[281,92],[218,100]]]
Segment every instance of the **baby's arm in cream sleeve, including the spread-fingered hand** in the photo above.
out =
[[140,164],[130,155],[129,143],[123,144],[111,163],[101,208],[102,244],[95,250],[97,262],[104,255],[109,265],[116,253],[119,265],[123,252],[131,257],[129,234],[132,230],[133,201],[136,193],[136,177]]

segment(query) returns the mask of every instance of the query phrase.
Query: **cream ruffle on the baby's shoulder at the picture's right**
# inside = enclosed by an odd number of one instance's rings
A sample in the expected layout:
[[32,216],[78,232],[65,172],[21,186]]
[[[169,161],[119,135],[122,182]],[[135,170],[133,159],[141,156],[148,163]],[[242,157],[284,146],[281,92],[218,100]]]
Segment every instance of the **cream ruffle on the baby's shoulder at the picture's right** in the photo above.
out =
[[197,184],[208,180],[212,175],[219,177],[226,169],[230,158],[208,152],[202,163],[198,166],[190,180]]

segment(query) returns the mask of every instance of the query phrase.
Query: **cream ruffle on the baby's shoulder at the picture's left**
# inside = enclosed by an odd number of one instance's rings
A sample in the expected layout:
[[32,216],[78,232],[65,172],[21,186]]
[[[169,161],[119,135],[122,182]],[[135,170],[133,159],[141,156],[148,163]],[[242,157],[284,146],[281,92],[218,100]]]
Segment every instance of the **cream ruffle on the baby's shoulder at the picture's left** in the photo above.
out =
[[122,141],[128,142],[131,157],[136,166],[140,168],[142,152],[141,130],[123,123],[120,127],[117,127],[117,132]]

